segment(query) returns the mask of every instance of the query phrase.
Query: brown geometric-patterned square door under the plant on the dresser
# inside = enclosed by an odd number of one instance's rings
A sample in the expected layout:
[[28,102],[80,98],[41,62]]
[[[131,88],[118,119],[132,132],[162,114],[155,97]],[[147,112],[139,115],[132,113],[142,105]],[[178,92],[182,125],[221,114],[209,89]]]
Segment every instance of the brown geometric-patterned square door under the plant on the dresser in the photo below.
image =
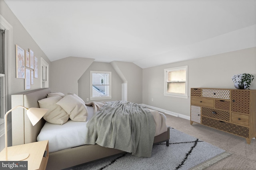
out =
[[231,110],[249,114],[250,92],[245,90],[232,90]]

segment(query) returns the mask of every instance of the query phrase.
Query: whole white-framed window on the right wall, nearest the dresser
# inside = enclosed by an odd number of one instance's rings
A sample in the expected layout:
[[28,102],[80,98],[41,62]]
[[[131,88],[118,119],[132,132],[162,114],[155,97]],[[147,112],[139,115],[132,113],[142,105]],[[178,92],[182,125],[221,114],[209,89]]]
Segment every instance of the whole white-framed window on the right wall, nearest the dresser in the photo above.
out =
[[188,98],[188,66],[164,69],[164,96]]

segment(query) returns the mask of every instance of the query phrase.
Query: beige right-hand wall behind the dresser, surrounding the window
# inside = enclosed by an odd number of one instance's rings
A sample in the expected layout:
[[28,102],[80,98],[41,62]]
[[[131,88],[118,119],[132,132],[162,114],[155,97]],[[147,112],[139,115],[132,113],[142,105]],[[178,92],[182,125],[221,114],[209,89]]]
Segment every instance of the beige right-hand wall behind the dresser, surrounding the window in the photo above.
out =
[[[164,69],[188,66],[188,99],[164,96]],[[190,116],[190,88],[234,88],[234,74],[256,76],[256,47],[165,64],[142,71],[143,104]],[[256,89],[256,79],[250,89]],[[153,102],[152,102],[153,98]]]

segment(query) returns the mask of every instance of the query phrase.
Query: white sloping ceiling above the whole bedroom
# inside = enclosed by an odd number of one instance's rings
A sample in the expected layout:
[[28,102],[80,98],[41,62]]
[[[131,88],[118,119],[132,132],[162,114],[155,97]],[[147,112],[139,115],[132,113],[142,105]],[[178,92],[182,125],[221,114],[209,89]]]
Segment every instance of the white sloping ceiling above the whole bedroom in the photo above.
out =
[[256,0],[4,0],[50,61],[141,68],[256,47]]

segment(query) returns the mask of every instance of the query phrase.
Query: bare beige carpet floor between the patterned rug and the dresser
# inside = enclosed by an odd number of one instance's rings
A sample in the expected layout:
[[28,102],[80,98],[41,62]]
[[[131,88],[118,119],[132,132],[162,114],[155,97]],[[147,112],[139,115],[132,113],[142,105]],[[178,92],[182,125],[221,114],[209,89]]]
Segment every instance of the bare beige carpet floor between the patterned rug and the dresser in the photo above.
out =
[[188,135],[199,138],[216,147],[232,153],[206,170],[256,170],[256,140],[248,145],[242,137],[219,131],[198,123],[190,125],[190,120],[166,115],[167,125]]

